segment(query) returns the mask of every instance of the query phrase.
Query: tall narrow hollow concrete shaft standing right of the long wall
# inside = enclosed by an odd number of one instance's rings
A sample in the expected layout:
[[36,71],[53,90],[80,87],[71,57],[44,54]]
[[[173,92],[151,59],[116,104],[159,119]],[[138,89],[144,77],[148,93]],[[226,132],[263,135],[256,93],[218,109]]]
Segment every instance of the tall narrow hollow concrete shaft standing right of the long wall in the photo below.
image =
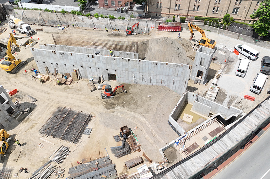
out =
[[208,75],[208,70],[213,58],[214,51],[215,51],[214,49],[205,46],[199,47],[199,49],[196,52],[196,56],[192,66],[190,79],[195,80],[198,71],[201,71],[203,72],[202,78],[200,79],[201,83],[204,84],[207,82],[206,77]]

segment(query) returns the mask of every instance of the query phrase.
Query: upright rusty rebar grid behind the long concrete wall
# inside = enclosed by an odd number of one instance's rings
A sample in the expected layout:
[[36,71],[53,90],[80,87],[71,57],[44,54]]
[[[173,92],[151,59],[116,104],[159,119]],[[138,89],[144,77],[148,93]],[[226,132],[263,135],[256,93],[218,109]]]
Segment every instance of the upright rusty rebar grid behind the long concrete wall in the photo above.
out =
[[79,46],[85,48],[97,48],[101,50],[115,50],[121,52],[138,53],[138,42],[115,41],[107,39],[91,39],[86,37],[65,36],[51,34],[55,45]]

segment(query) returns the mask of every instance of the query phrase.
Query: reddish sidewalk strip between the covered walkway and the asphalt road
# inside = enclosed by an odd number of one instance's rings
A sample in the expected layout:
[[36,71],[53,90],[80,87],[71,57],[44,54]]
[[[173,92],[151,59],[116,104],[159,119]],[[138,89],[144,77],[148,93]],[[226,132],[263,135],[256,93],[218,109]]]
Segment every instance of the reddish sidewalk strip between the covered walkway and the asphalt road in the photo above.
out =
[[219,165],[216,169],[214,169],[212,172],[208,173],[207,175],[204,175],[203,179],[210,179],[213,178],[216,174],[218,174],[220,171],[222,171],[224,168],[226,168],[227,165],[229,165],[231,162],[236,160],[240,155],[242,155],[245,150],[247,150],[253,143],[256,142],[257,139],[259,139],[263,133],[265,133],[270,127],[270,123],[262,128],[262,131],[260,131],[255,137],[251,139],[249,143],[246,144],[244,149],[239,149],[234,155],[232,155],[229,159],[224,161],[221,165]]

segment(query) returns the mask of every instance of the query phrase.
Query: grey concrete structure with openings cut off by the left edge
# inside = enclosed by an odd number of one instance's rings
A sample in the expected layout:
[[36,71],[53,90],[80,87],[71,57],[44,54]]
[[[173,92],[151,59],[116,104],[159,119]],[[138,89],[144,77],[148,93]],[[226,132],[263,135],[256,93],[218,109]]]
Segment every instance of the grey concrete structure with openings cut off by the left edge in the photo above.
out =
[[[13,109],[14,112],[16,112],[16,107],[14,106],[13,102],[11,101],[10,97],[8,96],[8,93],[4,89],[2,85],[0,85],[0,124],[3,127],[6,127],[12,120],[12,117],[9,116],[9,113],[7,112],[7,109]],[[5,101],[4,101],[5,100]],[[2,103],[2,104],[1,104]]]

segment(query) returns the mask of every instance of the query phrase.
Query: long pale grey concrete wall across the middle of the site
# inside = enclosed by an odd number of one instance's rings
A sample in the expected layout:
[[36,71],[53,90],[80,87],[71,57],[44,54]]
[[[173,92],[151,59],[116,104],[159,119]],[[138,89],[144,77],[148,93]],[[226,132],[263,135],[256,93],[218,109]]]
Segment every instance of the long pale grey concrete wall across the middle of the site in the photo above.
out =
[[[56,68],[58,73],[72,74],[73,69],[76,68],[82,78],[102,75],[105,80],[109,80],[110,73],[116,74],[116,81],[119,83],[166,86],[178,94],[186,91],[190,75],[190,66],[184,64],[52,51],[42,48],[32,48],[31,51],[41,73],[46,73],[45,67],[48,67],[52,73]],[[80,47],[70,48],[80,49]]]

